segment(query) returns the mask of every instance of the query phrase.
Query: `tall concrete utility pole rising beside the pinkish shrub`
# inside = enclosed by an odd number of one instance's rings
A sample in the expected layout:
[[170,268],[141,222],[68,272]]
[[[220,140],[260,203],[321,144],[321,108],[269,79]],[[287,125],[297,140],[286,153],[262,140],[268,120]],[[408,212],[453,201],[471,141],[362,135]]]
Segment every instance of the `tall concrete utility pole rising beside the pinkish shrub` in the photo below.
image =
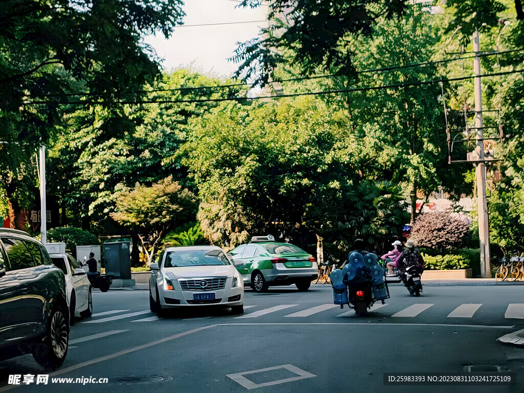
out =
[[[478,30],[473,33],[473,52],[477,55],[480,52],[478,40]],[[491,253],[489,249],[489,225],[488,207],[486,201],[486,164],[484,163],[484,128],[482,117],[482,91],[481,91],[481,58],[475,56],[473,60],[473,71],[475,73],[475,128],[477,148],[479,151],[477,163],[477,204],[478,204],[478,237],[481,247],[481,275],[484,278],[491,278]]]

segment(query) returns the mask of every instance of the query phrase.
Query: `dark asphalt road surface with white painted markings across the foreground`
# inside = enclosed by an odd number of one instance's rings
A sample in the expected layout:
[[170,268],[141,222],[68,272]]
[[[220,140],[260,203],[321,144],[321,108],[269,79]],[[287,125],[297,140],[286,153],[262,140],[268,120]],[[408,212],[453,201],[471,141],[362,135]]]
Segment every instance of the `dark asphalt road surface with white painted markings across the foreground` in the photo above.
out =
[[[47,385],[30,356],[0,363],[0,392],[521,392],[524,349],[497,338],[524,329],[524,286],[390,287],[386,305],[357,317],[330,286],[246,290],[245,314],[208,308],[158,319],[147,291],[93,293],[94,315],[72,326],[70,351]],[[380,307],[378,307],[380,306]],[[385,386],[384,373],[509,370],[512,386]],[[51,378],[107,378],[57,384]],[[288,380],[288,381],[283,381]],[[259,386],[262,385],[262,386]]]

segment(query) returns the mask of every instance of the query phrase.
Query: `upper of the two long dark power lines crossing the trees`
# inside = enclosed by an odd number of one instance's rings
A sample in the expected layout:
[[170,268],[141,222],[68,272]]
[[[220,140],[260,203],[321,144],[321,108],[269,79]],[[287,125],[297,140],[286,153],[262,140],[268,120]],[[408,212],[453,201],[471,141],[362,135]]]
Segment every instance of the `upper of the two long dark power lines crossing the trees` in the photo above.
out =
[[[495,56],[497,54],[504,54],[504,53],[511,53],[511,52],[521,52],[522,49],[514,49],[514,50],[506,50],[501,52],[483,52],[479,53],[478,57],[486,57],[486,56]],[[369,70],[362,70],[357,71],[357,74],[361,73],[371,73],[371,72],[384,72],[384,71],[394,71],[397,69],[404,69],[404,68],[412,68],[412,67],[420,67],[422,65],[432,65],[432,64],[442,64],[452,61],[459,61],[459,60],[465,60],[465,59],[472,59],[476,56],[467,56],[467,57],[460,57],[460,58],[453,58],[453,59],[445,59],[445,60],[438,60],[438,61],[427,61],[422,63],[411,63],[411,64],[405,64],[405,65],[394,65],[391,67],[384,67],[384,68],[376,68],[376,69],[369,69]],[[337,74],[328,74],[328,75],[313,75],[312,77],[300,77],[300,78],[290,78],[290,79],[280,79],[280,80],[274,80],[270,83],[280,83],[280,82],[297,82],[297,81],[304,81],[304,80],[312,80],[312,79],[321,79],[321,78],[335,78],[335,77],[344,77],[344,75],[337,75]],[[238,86],[248,86],[253,87],[252,84],[249,83],[234,83],[234,84],[226,84],[226,85],[215,85],[215,86],[194,86],[190,88],[173,88],[173,89],[152,89],[152,90],[137,90],[135,93],[155,93],[155,92],[169,92],[169,91],[193,91],[193,90],[210,90],[210,89],[224,89],[224,88],[233,88]],[[102,95],[101,93],[67,93],[63,94],[64,96],[88,96],[88,95]],[[43,95],[43,97],[53,97],[53,96],[59,96],[59,94],[52,94],[52,95]]]

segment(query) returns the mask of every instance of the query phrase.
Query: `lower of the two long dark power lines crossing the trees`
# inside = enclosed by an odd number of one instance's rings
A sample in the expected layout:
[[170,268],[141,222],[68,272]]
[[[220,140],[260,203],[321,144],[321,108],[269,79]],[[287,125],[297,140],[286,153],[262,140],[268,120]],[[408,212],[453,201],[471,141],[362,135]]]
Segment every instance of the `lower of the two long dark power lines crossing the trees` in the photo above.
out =
[[[198,103],[198,102],[224,102],[224,101],[245,101],[245,100],[263,100],[263,99],[272,99],[272,98],[286,98],[286,97],[298,97],[302,95],[325,95],[325,94],[336,94],[336,93],[352,93],[352,92],[361,92],[361,91],[370,91],[370,90],[383,90],[383,89],[398,89],[405,88],[408,86],[422,86],[430,85],[434,83],[442,82],[456,82],[464,81],[468,79],[473,79],[477,77],[497,77],[499,75],[509,75],[516,73],[524,73],[524,69],[516,71],[505,71],[505,72],[495,72],[483,75],[471,75],[469,77],[460,77],[460,78],[450,78],[450,79],[436,79],[432,81],[421,81],[421,82],[408,82],[408,83],[397,83],[384,86],[367,86],[365,88],[354,88],[354,89],[338,89],[338,90],[327,90],[327,91],[316,91],[316,92],[307,92],[307,93],[290,93],[290,94],[279,94],[279,95],[268,95],[268,96],[257,96],[257,97],[226,97],[221,99],[204,99],[204,100],[151,100],[151,101],[116,101],[117,104],[123,105],[141,105],[141,104],[181,104],[181,103]],[[50,101],[31,101],[26,102],[24,105],[38,105],[38,104],[49,104]],[[100,103],[89,102],[89,101],[75,101],[67,102],[64,105],[97,105]]]

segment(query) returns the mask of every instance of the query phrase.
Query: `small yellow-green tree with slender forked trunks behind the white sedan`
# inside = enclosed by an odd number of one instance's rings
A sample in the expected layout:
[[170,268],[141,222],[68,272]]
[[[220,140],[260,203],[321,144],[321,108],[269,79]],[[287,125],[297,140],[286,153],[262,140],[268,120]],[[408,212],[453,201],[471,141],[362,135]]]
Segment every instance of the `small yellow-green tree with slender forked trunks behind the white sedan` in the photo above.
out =
[[134,188],[122,187],[116,198],[111,217],[138,235],[148,265],[162,234],[194,217],[194,195],[171,176],[151,187],[139,183]]

